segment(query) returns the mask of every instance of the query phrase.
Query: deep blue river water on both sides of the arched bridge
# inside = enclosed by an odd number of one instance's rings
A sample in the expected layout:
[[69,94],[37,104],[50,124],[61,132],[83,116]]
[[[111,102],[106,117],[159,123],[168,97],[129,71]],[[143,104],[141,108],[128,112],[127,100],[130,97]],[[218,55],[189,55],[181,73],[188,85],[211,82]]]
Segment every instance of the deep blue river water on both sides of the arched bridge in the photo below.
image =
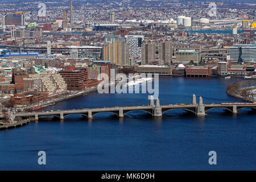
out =
[[[192,94],[205,103],[243,102],[225,93],[235,80],[161,77],[160,104],[191,103]],[[44,110],[148,104],[147,94],[90,93]],[[141,111],[119,119],[110,113],[43,119],[0,131],[0,169],[9,170],[255,170],[256,113],[237,115],[222,109],[195,117],[182,110],[152,118]],[[46,166],[38,152],[46,151]],[[217,165],[209,165],[209,151]]]

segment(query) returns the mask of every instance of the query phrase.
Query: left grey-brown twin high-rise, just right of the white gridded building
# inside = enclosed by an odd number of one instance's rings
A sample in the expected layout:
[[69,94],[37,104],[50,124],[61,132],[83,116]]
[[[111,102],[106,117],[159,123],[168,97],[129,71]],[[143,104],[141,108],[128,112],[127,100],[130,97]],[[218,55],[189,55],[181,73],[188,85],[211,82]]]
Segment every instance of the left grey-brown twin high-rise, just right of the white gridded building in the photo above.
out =
[[155,42],[152,40],[142,41],[142,64],[149,64],[155,61]]

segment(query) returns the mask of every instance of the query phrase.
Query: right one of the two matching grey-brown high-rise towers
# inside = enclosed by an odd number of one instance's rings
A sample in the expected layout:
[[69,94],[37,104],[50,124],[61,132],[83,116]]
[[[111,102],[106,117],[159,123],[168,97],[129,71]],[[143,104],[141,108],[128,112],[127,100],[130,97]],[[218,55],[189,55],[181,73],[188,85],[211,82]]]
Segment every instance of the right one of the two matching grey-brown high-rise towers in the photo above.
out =
[[171,64],[172,41],[170,39],[159,40],[159,60],[162,61],[162,64]]

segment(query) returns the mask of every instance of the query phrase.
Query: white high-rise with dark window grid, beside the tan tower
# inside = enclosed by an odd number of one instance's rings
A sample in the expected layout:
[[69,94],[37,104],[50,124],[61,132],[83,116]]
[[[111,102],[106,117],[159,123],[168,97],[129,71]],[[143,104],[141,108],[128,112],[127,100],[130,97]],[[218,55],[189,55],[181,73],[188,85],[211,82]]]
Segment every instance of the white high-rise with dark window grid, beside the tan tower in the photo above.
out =
[[141,59],[143,35],[126,35],[126,43],[129,46],[129,58]]

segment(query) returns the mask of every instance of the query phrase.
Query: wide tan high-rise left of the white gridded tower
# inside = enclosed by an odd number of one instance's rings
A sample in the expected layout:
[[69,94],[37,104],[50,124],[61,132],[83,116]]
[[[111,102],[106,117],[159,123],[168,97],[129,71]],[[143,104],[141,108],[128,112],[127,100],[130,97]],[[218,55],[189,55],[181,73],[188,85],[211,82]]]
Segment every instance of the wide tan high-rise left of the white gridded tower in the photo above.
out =
[[103,59],[118,65],[127,65],[129,60],[129,46],[125,38],[114,39],[113,42],[104,43]]

